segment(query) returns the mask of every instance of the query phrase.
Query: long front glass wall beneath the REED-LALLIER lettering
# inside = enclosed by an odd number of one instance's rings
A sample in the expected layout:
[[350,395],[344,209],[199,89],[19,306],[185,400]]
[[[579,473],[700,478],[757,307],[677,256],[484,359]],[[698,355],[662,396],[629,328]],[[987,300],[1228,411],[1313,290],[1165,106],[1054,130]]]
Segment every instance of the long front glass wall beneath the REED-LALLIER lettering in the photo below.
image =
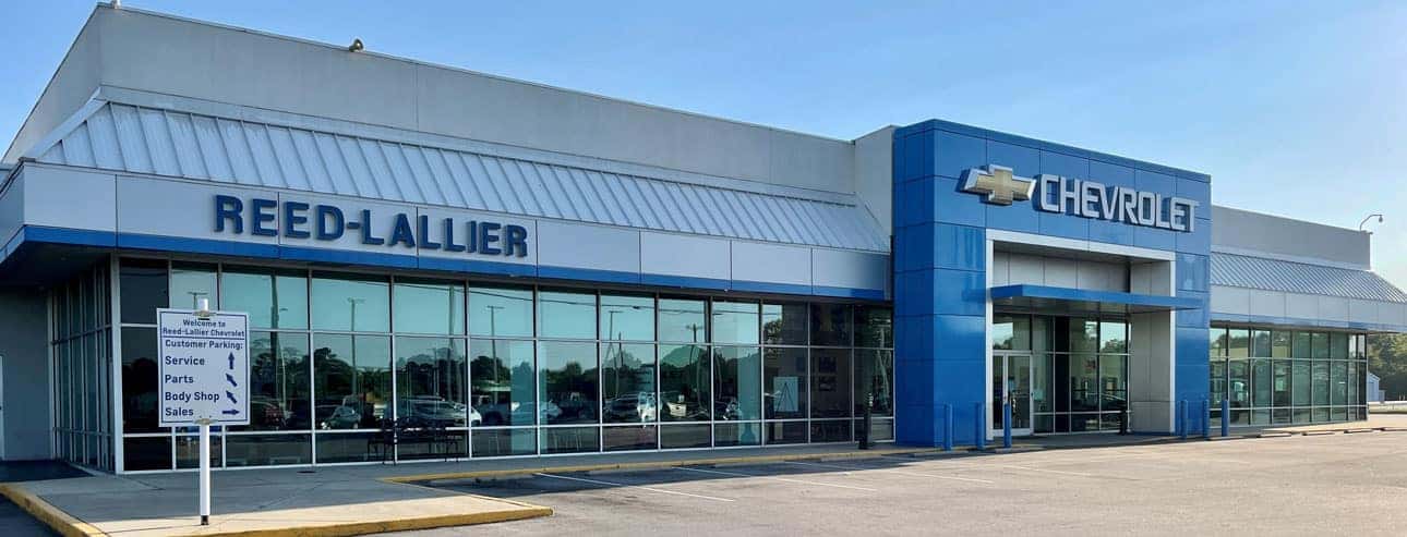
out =
[[219,467],[378,461],[384,420],[447,432],[401,460],[893,437],[888,305],[616,292],[239,264],[120,263],[125,471],[190,468],[156,426],[155,311],[250,322],[250,413]]

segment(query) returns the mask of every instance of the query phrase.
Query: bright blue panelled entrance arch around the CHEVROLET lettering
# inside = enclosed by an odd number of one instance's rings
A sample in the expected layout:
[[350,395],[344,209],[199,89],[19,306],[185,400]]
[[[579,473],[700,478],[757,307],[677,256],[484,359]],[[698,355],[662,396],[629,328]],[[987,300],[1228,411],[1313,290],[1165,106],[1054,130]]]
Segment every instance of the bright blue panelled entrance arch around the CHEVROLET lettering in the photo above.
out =
[[[955,444],[972,444],[985,419],[988,360],[986,236],[989,229],[1175,252],[1179,304],[1173,398],[1196,408],[1207,398],[1211,186],[1200,173],[1078,148],[924,121],[893,135],[893,297],[896,439],[940,446],[947,408]],[[1016,177],[1058,174],[1197,202],[1192,232],[1085,218],[1037,208],[1038,195],[1012,205],[964,191],[964,173],[983,166]],[[1044,195],[1044,193],[1041,193]],[[1190,299],[1190,301],[1188,301]],[[1190,413],[1193,430],[1200,412]]]

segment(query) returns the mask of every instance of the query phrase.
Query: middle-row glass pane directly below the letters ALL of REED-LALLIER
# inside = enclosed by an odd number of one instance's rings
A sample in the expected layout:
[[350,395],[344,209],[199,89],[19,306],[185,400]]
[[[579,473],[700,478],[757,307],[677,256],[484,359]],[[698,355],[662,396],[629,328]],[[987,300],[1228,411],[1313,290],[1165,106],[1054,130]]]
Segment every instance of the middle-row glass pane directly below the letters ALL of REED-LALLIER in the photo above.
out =
[[466,401],[467,374],[464,340],[397,337],[395,418],[440,427],[467,427],[478,422],[480,416]]

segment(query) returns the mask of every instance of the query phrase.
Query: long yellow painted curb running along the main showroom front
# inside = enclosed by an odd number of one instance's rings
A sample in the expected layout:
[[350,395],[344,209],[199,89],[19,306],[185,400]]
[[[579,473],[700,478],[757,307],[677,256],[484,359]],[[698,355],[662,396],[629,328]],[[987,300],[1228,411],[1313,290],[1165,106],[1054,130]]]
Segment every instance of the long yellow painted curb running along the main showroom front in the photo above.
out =
[[528,474],[571,474],[571,472],[590,472],[601,470],[674,468],[674,467],[685,467],[695,464],[756,464],[756,462],[808,461],[817,458],[874,458],[882,455],[902,455],[902,454],[929,453],[929,451],[934,450],[931,447],[923,447],[923,448],[870,450],[870,451],[799,453],[799,454],[782,454],[782,455],[681,458],[681,460],[646,461],[646,462],[605,462],[605,464],[578,464],[578,465],[563,465],[563,467],[533,467],[533,468],[511,468],[511,470],[480,470],[467,472],[395,475],[395,477],[381,478],[381,481],[394,484],[415,484],[424,481],[501,478],[509,475],[528,475]]

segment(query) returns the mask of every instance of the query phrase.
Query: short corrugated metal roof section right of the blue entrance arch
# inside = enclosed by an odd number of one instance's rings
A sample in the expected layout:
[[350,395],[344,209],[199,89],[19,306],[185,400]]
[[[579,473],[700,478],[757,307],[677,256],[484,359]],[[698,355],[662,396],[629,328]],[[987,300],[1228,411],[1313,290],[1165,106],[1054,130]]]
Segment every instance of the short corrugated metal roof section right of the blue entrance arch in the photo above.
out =
[[1407,292],[1366,271],[1230,253],[1211,254],[1211,284],[1263,291],[1407,302]]

